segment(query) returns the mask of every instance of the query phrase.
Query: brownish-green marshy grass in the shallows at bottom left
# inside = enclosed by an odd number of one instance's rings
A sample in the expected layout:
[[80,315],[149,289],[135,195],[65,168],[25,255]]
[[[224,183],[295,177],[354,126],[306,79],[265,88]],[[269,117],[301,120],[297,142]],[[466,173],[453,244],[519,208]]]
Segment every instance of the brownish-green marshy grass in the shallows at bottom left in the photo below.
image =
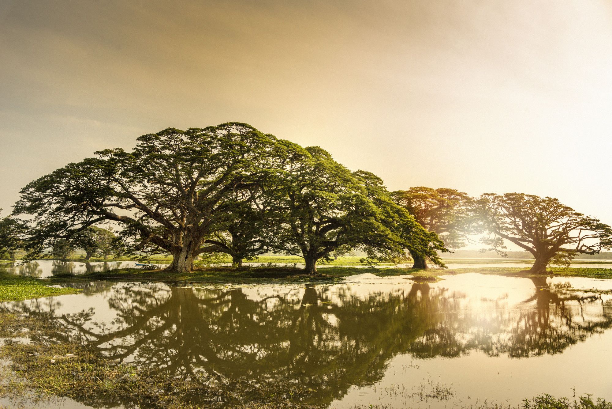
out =
[[[283,381],[255,382],[206,374],[173,377],[156,367],[119,364],[95,348],[70,342],[49,321],[0,313],[0,336],[21,337],[28,328],[30,343],[5,340],[0,358],[10,359],[11,375],[0,383],[0,396],[70,397],[94,407],[178,408],[318,408],[299,403],[312,390]],[[8,378],[8,379],[7,379]]]

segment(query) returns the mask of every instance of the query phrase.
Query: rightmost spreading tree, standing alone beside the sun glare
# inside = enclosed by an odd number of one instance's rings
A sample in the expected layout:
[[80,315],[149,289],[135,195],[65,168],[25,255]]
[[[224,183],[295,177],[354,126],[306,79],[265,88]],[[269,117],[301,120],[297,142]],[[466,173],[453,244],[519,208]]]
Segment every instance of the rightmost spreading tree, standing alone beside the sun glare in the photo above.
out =
[[475,201],[474,211],[483,228],[493,235],[485,240],[491,250],[499,249],[505,239],[533,255],[535,261],[529,272],[542,274],[551,263],[612,247],[610,226],[555,198],[485,193]]

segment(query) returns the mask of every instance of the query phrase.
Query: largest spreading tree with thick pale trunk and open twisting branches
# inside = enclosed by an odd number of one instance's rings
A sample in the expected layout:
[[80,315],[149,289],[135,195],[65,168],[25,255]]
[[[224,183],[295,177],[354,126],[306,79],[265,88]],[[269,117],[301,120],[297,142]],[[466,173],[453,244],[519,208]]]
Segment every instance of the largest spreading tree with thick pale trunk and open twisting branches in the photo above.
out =
[[169,252],[168,271],[190,272],[197,255],[223,250],[205,241],[231,206],[224,199],[267,177],[275,144],[239,122],[168,128],[138,138],[132,152],[100,151],[31,182],[13,215],[34,216],[33,253],[111,220],[134,252]]

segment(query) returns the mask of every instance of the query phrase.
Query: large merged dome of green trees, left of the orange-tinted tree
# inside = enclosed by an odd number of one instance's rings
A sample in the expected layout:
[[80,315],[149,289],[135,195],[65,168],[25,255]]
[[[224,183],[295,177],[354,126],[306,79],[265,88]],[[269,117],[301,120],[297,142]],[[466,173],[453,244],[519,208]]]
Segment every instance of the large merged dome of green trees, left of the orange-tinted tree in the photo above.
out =
[[436,233],[395,204],[380,178],[349,171],[318,146],[230,122],[168,128],[138,138],[132,152],[96,154],[21,190],[13,217],[26,217],[5,230],[20,228],[30,258],[75,247],[91,257],[105,241],[95,226],[111,222],[128,252],[171,253],[169,272],[192,271],[203,252],[240,265],[269,250],[301,255],[309,273],[348,249],[370,260],[409,249],[443,265]]

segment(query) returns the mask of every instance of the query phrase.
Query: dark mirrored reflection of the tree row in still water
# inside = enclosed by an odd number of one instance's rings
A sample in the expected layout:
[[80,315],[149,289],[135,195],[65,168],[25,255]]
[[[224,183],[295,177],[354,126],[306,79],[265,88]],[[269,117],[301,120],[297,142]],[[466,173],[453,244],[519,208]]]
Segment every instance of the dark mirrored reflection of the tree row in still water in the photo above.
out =
[[612,304],[600,296],[554,290],[545,280],[534,284],[534,295],[518,306],[501,297],[484,301],[483,309],[466,295],[427,283],[367,296],[345,284],[255,296],[252,289],[134,283],[89,291],[108,291],[117,311],[97,329],[90,328],[86,310],[59,315],[53,306],[14,305],[61,320],[113,358],[168,375],[300,382],[316,391],[304,403],[320,405],[352,385],[379,381],[386,362],[400,353],[559,353],[612,325]]

